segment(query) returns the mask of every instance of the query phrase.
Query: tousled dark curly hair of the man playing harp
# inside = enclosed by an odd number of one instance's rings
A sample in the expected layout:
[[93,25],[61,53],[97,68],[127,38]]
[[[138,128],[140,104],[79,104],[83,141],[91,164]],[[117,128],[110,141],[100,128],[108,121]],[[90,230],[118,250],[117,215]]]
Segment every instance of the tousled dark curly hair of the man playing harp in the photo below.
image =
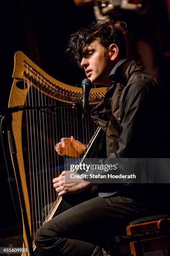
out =
[[81,28],[80,31],[71,35],[66,52],[69,52],[80,66],[84,56],[84,47],[97,39],[105,48],[108,48],[110,44],[116,44],[119,48],[119,56],[123,58],[127,56],[126,33],[127,25],[124,22],[97,20],[87,28]]

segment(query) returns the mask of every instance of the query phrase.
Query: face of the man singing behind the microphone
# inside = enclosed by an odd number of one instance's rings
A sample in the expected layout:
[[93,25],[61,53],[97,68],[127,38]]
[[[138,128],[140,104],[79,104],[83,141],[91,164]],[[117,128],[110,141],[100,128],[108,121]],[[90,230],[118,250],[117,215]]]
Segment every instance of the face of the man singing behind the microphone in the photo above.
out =
[[113,63],[109,49],[99,44],[97,40],[85,46],[81,67],[84,67],[86,76],[92,83],[109,86],[108,75],[112,71]]

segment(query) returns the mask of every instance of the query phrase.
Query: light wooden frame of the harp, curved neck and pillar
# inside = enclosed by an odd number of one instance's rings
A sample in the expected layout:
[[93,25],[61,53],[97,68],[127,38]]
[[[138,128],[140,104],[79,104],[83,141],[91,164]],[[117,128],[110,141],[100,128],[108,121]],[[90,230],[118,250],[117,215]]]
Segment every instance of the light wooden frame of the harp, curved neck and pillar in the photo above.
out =
[[[29,82],[27,83],[27,88],[18,88],[17,83],[19,81],[31,81],[33,87],[36,87],[37,90],[40,90],[43,94],[47,95],[48,97],[52,97],[53,99],[66,102],[66,103],[81,103],[82,97],[82,90],[79,87],[73,87],[58,80],[54,79],[53,77],[49,76],[46,72],[40,69],[33,61],[31,61],[23,52],[18,51],[14,56],[14,71],[13,71],[13,86],[10,92],[10,99],[8,107],[15,107],[15,106],[24,106],[25,99],[28,94],[28,90],[30,88]],[[30,74],[28,74],[28,71]],[[35,79],[36,77],[36,79]],[[37,79],[38,77],[38,79]],[[106,93],[106,88],[96,88],[91,89],[89,95],[89,104],[97,104],[103,100],[104,95]],[[26,214],[29,223],[29,229],[31,234],[31,218],[30,218],[30,203],[28,197],[28,189],[25,177],[25,168],[24,168],[24,161],[23,161],[23,150],[22,150],[22,116],[23,111],[18,111],[12,114],[12,130],[13,136],[15,140],[16,146],[16,157],[18,161],[19,167],[19,175],[22,184],[23,194],[24,194],[24,201],[26,206]],[[12,155],[11,155],[12,156]],[[16,178],[16,170],[13,163],[13,168],[15,172]],[[16,180],[17,182],[17,180]],[[18,183],[17,183],[18,186]],[[20,197],[20,195],[19,195]],[[21,205],[22,208],[22,205]],[[49,220],[49,218],[48,218]],[[25,226],[23,222],[23,238],[25,241],[25,246],[28,247],[28,241],[25,236]],[[35,245],[33,244],[33,247]],[[25,253],[23,253],[25,254]],[[28,253],[29,255],[29,253]]]

